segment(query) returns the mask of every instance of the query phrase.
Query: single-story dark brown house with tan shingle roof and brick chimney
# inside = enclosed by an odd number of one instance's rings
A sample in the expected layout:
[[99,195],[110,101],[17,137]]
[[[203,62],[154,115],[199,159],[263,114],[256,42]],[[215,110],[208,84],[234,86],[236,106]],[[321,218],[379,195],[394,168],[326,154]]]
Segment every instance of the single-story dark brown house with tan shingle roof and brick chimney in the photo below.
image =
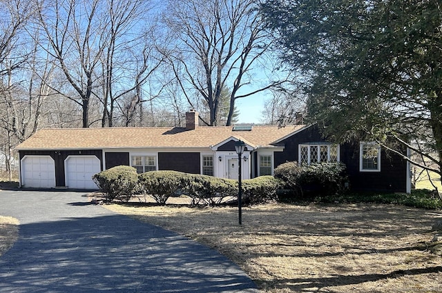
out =
[[96,189],[93,174],[116,165],[238,179],[240,140],[242,179],[271,175],[286,161],[340,161],[354,190],[410,192],[410,165],[376,143],[329,143],[316,125],[202,127],[192,110],[185,128],[39,130],[16,148],[19,180],[26,188]]

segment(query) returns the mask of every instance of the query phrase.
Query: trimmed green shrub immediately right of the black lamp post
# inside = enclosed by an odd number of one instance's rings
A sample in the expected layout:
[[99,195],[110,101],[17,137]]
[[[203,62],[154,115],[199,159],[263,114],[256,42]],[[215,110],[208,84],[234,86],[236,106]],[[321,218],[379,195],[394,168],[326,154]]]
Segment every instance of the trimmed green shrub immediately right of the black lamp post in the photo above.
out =
[[242,181],[244,204],[255,205],[276,199],[276,190],[282,188],[283,181],[273,176],[259,176]]

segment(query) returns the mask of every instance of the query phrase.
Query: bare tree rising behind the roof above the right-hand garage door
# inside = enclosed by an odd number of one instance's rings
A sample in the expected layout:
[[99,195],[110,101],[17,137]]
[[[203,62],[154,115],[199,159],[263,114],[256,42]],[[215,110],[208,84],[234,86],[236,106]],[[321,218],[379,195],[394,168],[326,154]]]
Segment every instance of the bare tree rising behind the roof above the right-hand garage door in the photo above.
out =
[[[89,127],[89,103],[97,88],[99,61],[108,43],[106,11],[99,9],[100,1],[41,1],[39,21],[50,45],[48,52],[57,60],[59,69],[75,90],[77,97],[52,89],[81,105],[83,127]],[[42,40],[43,41],[43,40]],[[42,46],[46,48],[46,46]]]

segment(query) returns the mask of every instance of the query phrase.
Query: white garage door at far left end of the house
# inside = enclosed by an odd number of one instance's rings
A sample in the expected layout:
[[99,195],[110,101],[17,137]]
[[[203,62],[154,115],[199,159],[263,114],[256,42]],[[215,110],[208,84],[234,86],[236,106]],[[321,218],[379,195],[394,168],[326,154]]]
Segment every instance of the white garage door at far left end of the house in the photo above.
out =
[[21,159],[21,185],[26,188],[55,188],[55,162],[50,156]]

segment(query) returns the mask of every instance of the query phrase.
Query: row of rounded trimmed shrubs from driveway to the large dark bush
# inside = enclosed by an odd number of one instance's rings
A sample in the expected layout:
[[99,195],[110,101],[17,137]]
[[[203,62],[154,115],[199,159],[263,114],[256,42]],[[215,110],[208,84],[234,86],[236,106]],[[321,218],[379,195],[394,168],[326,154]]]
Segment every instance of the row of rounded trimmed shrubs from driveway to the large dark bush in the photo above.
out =
[[[138,175],[135,168],[117,166],[93,176],[106,194],[107,201],[128,201],[134,194],[147,194],[157,203],[165,204],[177,194],[190,196],[193,204],[219,205],[238,195],[238,182],[200,174],[176,171],[151,171]],[[260,176],[242,181],[245,204],[264,203],[276,199],[282,182],[273,176]]]

